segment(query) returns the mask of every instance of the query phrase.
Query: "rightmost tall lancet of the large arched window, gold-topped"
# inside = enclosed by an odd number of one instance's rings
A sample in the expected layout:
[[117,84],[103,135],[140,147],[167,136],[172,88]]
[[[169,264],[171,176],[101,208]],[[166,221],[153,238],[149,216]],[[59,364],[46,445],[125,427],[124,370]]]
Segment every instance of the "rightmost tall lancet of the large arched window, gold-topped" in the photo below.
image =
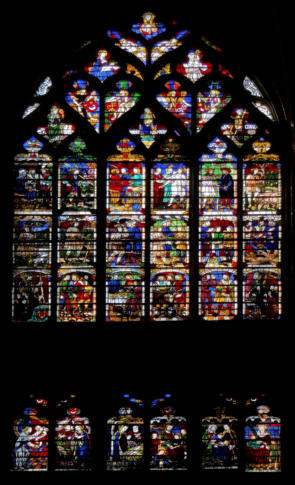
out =
[[[281,164],[260,138],[243,164],[244,318],[281,315]],[[250,269],[252,268],[252,269]]]

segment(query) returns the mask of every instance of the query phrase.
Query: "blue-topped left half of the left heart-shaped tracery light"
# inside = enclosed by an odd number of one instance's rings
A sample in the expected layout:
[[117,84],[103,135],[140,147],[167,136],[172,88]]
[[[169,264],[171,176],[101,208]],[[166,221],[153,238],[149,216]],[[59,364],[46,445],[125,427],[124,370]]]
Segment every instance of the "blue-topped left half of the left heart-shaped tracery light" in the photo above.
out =
[[65,100],[79,115],[86,118],[95,131],[99,133],[100,98],[96,91],[89,91],[88,86],[89,82],[84,79],[74,81],[74,91],[66,93]]

